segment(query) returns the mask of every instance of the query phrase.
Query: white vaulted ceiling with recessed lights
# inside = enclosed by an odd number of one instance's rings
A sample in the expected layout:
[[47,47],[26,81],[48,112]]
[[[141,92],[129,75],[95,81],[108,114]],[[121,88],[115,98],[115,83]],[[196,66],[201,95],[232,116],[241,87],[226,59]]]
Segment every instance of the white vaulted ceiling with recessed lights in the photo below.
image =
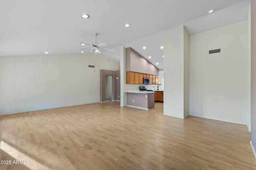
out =
[[[132,47],[163,68],[163,31],[185,25],[190,35],[247,19],[250,0],[0,0],[0,57],[81,53],[80,42],[115,52]],[[208,10],[216,8],[208,14]],[[90,18],[81,18],[89,14]],[[130,23],[130,27],[124,27]],[[142,49],[146,46],[146,49]]]

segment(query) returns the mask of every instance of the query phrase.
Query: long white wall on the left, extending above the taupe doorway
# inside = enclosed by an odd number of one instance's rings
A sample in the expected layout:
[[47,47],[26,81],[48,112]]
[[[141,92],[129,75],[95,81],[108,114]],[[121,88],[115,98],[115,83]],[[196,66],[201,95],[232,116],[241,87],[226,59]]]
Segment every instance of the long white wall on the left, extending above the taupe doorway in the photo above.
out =
[[100,69],[120,64],[92,53],[0,57],[0,115],[99,102]]

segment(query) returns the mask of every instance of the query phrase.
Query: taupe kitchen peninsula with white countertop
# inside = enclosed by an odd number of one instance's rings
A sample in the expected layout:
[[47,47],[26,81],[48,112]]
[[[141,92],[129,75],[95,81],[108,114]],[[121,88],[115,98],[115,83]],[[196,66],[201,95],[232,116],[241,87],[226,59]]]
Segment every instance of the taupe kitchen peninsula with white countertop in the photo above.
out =
[[140,109],[154,108],[154,93],[152,91],[128,90],[127,106],[136,107]]

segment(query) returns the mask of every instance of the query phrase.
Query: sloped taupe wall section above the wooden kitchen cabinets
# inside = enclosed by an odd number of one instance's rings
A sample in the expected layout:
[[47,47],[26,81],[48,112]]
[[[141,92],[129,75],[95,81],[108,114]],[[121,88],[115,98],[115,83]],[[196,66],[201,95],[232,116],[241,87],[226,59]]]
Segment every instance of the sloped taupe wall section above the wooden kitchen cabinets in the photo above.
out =
[[126,48],[126,72],[144,73],[148,74],[148,76],[150,74],[158,75],[159,68],[129,47]]

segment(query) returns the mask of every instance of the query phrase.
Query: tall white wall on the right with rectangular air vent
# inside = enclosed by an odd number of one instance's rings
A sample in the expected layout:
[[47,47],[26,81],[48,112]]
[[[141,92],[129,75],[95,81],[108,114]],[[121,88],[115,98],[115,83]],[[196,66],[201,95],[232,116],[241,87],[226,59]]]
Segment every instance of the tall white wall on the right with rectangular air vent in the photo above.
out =
[[[208,50],[217,48],[222,48],[221,54],[208,55]],[[189,114],[246,125],[250,107],[247,21],[191,35],[189,62]]]

